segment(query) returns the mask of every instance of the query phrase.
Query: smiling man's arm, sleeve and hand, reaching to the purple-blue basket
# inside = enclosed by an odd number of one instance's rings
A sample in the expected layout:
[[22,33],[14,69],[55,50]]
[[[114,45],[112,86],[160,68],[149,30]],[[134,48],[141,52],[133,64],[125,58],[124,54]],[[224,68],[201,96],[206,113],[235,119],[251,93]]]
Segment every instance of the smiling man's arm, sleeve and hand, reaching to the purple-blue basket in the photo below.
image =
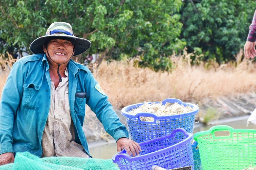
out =
[[139,155],[139,151],[141,151],[139,144],[128,138],[129,134],[126,127],[119,121],[119,117],[108,101],[107,95],[104,92],[103,94],[100,93],[95,88],[98,83],[91,72],[88,72],[84,83],[87,93],[86,104],[96,114],[104,129],[117,141],[117,150],[125,149],[126,153],[131,153],[132,156]]

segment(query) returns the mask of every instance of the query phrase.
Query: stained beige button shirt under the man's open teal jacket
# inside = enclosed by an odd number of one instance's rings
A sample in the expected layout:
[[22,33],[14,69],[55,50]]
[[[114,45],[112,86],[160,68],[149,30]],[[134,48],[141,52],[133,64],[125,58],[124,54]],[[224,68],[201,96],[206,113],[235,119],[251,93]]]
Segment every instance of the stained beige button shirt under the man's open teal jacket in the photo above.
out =
[[83,146],[75,142],[74,124],[70,115],[67,77],[55,89],[51,80],[51,103],[42,137],[42,157],[67,156],[89,158]]

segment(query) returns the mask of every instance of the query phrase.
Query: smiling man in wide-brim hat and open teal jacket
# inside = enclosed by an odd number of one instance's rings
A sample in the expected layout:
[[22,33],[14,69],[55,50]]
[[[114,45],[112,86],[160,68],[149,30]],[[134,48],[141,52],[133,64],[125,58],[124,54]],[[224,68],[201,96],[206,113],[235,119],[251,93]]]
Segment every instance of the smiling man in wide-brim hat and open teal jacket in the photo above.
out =
[[0,165],[24,151],[38,157],[89,158],[82,129],[85,103],[117,141],[118,151],[139,154],[138,143],[128,139],[90,70],[70,60],[90,46],[74,36],[70,24],[55,22],[46,36],[31,43],[34,54],[13,64],[0,102]]

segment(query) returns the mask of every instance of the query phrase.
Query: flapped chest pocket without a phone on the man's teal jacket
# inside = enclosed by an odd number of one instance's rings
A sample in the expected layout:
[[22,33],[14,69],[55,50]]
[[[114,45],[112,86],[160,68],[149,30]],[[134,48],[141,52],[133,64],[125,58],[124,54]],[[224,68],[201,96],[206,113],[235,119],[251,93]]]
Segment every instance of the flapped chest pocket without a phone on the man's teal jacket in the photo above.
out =
[[41,86],[35,83],[23,83],[22,105],[27,109],[35,109],[38,100],[38,91]]

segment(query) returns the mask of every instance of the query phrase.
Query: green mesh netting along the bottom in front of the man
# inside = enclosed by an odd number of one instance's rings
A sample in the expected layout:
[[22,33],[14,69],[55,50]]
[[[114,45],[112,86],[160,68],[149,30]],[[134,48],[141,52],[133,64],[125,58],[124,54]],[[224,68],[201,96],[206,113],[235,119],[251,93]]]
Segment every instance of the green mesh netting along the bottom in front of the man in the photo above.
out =
[[29,152],[16,153],[14,163],[0,166],[0,170],[119,170],[111,159],[77,157],[38,158]]

